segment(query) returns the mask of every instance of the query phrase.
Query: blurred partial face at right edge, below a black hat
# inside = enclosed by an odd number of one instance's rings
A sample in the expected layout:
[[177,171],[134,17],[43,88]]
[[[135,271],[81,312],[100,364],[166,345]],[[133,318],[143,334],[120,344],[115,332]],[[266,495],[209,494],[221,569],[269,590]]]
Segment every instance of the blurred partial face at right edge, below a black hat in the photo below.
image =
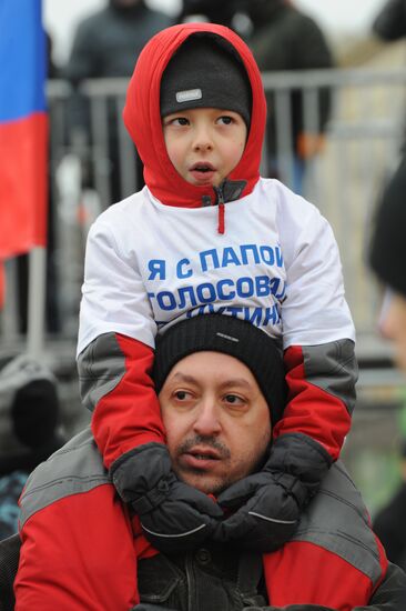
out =
[[396,362],[406,372],[406,298],[390,293],[380,315],[382,333],[395,345]]

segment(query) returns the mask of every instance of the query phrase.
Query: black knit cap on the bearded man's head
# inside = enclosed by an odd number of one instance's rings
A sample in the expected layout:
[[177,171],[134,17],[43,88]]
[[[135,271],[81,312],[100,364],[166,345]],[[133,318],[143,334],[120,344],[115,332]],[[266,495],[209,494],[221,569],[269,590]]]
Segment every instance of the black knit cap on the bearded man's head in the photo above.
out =
[[270,407],[274,425],[286,402],[282,351],[275,339],[237,318],[203,314],[183,320],[156,339],[153,379],[159,393],[171,369],[194,352],[223,352],[242,361],[253,373]]

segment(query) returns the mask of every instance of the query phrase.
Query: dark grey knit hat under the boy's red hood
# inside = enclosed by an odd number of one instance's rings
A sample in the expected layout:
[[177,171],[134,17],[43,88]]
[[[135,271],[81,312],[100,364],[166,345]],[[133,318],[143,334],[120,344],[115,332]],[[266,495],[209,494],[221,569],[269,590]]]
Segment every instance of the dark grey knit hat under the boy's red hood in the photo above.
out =
[[246,70],[234,48],[213,33],[189,37],[162,76],[161,116],[194,108],[238,112],[250,127],[252,91]]

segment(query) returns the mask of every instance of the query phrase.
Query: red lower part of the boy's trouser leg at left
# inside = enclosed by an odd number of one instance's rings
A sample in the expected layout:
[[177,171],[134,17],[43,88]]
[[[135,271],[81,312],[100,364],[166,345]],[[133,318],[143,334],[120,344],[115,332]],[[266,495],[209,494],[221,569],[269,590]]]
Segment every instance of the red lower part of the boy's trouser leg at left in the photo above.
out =
[[21,540],[17,611],[128,611],[139,602],[131,524],[112,485],[38,511]]

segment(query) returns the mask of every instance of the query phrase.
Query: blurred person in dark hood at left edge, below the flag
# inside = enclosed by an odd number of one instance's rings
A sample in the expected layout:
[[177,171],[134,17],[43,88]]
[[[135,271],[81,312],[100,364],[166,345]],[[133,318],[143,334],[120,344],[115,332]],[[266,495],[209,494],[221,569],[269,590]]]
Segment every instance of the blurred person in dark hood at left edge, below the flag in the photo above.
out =
[[18,499],[30,472],[64,442],[57,380],[24,354],[0,362],[0,540],[17,532]]

